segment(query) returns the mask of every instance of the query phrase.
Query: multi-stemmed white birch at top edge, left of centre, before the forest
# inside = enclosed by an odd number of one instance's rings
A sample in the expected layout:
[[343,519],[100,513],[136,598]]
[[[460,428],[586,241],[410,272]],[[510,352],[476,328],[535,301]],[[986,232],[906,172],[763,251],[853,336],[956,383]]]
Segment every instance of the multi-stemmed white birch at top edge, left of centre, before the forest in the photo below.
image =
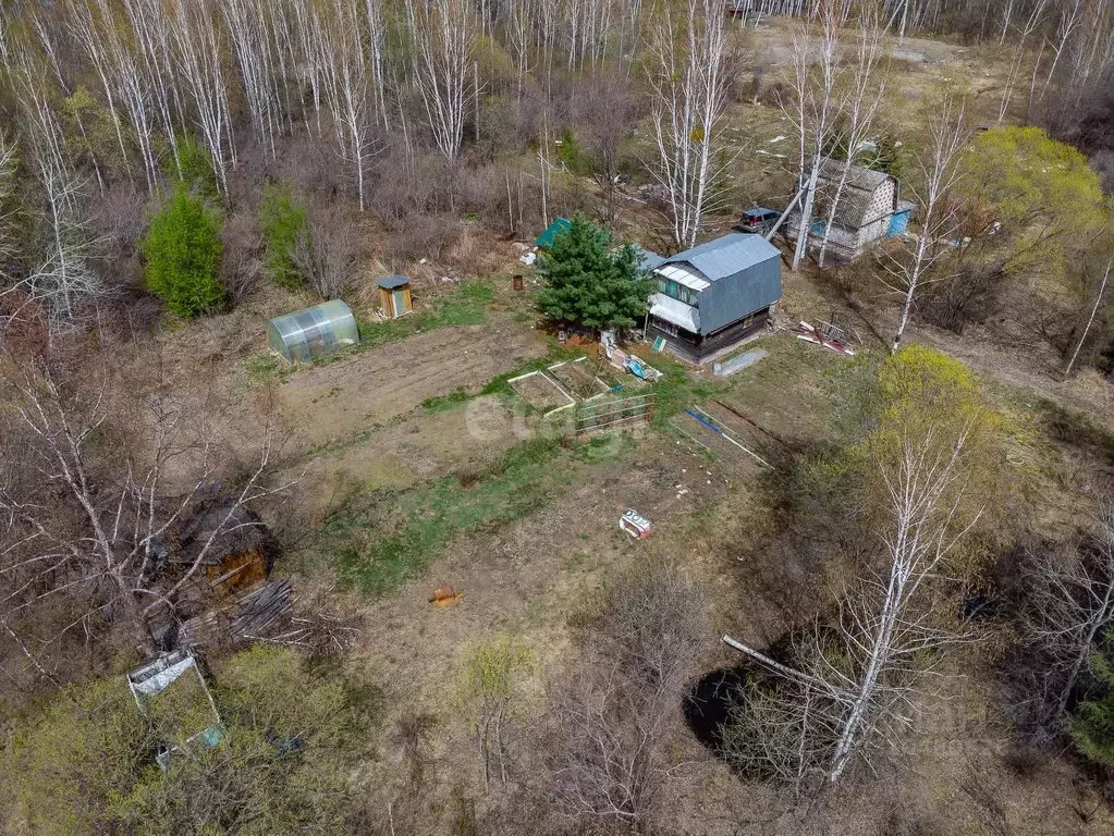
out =
[[448,163],[460,154],[470,100],[475,22],[466,0],[408,0],[413,75],[429,128]]

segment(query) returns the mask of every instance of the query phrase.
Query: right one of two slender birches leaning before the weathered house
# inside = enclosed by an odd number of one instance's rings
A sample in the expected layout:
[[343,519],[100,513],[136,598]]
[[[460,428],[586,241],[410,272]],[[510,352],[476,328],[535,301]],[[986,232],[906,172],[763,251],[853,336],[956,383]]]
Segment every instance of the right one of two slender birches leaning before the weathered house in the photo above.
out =
[[839,210],[847,178],[854,164],[854,155],[859,145],[870,135],[874,117],[886,95],[887,79],[881,75],[879,63],[885,55],[882,40],[886,30],[873,12],[864,12],[859,21],[856,38],[854,62],[850,67],[847,79],[847,90],[840,102],[843,116],[844,139],[847,141],[847,165],[840,170],[836,190],[829,196],[828,215],[824,223],[823,237],[820,239],[820,252],[817,265],[824,266],[824,255],[828,253],[828,240],[831,237],[836,213]]

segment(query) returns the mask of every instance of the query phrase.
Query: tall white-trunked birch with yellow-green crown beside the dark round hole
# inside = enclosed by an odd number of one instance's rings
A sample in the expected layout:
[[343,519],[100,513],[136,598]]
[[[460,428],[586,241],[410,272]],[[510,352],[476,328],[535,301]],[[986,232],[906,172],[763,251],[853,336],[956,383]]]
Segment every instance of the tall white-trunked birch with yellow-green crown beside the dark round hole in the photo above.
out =
[[926,670],[965,638],[941,623],[934,603],[946,579],[964,572],[965,538],[983,513],[975,480],[998,422],[970,373],[929,350],[892,356],[881,383],[883,417],[862,450],[881,502],[877,564],[851,584],[831,623],[801,631],[791,663],[724,637],[779,683],[768,704],[773,724],[769,711],[747,716],[754,701],[744,697],[730,732],[734,750],[754,750],[747,735],[775,735],[763,757],[802,783],[837,783],[896,742],[912,722]]

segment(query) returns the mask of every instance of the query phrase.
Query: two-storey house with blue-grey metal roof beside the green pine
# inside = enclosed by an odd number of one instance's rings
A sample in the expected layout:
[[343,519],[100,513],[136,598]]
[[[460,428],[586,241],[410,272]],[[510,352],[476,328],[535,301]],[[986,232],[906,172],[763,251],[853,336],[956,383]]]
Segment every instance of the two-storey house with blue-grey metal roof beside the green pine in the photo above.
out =
[[729,233],[653,269],[646,340],[704,363],[765,327],[781,299],[781,252],[761,235]]

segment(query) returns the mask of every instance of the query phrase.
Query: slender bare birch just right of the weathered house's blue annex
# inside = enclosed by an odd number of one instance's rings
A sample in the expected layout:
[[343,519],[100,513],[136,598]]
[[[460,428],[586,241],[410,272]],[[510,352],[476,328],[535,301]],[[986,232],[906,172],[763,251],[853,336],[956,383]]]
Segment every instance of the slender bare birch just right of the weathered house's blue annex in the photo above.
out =
[[888,278],[886,285],[903,296],[901,316],[893,334],[892,352],[901,347],[901,337],[925,276],[950,246],[956,228],[956,204],[949,200],[964,171],[960,156],[970,138],[962,104],[945,101],[929,120],[931,145],[918,160],[925,183],[915,191],[920,218],[920,233],[911,247],[900,256],[883,256]]

